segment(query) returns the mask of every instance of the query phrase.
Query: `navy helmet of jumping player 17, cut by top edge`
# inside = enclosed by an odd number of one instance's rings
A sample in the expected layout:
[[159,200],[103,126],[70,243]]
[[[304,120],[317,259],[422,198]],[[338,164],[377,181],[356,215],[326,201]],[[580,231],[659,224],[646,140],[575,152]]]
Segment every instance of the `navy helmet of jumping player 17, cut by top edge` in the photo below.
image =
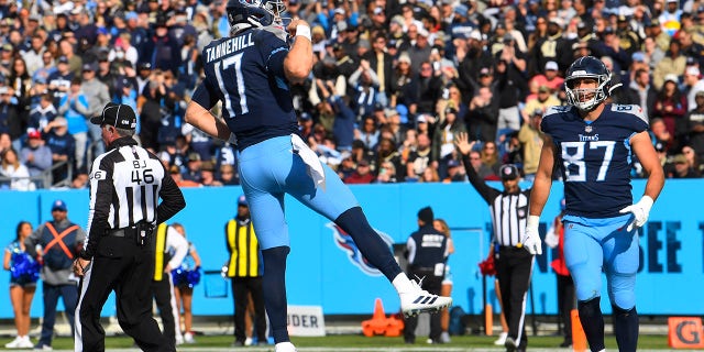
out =
[[280,14],[285,11],[286,4],[282,0],[230,0],[227,7],[230,34],[268,25],[283,29]]

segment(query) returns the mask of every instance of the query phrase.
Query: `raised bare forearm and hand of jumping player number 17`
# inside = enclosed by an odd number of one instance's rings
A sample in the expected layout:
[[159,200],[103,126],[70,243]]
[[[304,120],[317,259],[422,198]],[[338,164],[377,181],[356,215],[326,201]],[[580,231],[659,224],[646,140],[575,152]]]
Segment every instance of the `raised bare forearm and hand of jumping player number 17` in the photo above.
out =
[[294,37],[294,44],[284,59],[284,72],[288,81],[302,82],[310,75],[314,64],[310,25],[304,20],[294,19],[287,30]]

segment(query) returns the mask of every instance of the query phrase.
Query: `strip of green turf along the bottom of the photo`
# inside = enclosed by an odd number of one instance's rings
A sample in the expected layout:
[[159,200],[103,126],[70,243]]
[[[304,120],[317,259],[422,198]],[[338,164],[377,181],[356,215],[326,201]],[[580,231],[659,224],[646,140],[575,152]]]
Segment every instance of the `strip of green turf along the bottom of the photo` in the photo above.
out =
[[[415,344],[405,344],[403,338],[364,336],[329,336],[323,338],[292,338],[299,351],[504,351],[503,348],[495,346],[496,337],[484,336],[461,336],[452,337],[452,342],[441,345],[427,344],[420,337]],[[8,340],[9,341],[9,340]],[[571,349],[559,349],[561,337],[529,337],[529,351],[571,351]],[[198,336],[196,343],[177,346],[178,351],[273,351],[273,345],[267,346],[245,346],[232,348],[233,338],[231,336]],[[4,344],[4,343],[2,343]],[[0,345],[2,345],[0,344]],[[73,350],[73,340],[69,338],[58,338],[53,343],[54,351]],[[606,348],[616,351],[616,341],[613,336],[607,337]],[[133,346],[132,340],[127,337],[111,337],[106,340],[108,351],[139,351]],[[638,351],[648,350],[671,350],[668,346],[666,336],[641,336],[638,342]],[[691,351],[691,350],[690,350]]]

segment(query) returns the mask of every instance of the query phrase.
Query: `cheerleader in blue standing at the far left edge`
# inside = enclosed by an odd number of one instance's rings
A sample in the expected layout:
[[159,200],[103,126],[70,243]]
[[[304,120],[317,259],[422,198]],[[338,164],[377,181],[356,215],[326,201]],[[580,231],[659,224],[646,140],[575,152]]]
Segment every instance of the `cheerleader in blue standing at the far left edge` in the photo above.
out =
[[30,307],[36,280],[40,277],[40,264],[26,252],[24,240],[32,234],[32,224],[20,221],[16,237],[4,250],[2,266],[10,271],[10,299],[14,311],[14,326],[18,337],[6,343],[6,349],[31,349],[34,343],[30,340]]

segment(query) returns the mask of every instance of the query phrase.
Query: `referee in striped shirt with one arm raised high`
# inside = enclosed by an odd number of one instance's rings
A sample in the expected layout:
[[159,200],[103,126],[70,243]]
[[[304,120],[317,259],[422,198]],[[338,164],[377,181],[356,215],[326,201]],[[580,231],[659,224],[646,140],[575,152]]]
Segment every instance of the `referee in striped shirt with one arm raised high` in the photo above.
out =
[[[525,351],[528,345],[525,327],[525,306],[534,255],[522,249],[520,239],[526,229],[530,189],[518,187],[519,172],[513,164],[501,167],[504,190],[490,187],[476,174],[470,162],[470,152],[475,142],[469,142],[466,133],[460,133],[455,145],[462,153],[466,175],[474,189],[484,198],[492,213],[494,241],[498,244],[496,278],[502,295],[504,316],[508,323],[506,351]],[[492,246],[494,252],[494,246]]]

